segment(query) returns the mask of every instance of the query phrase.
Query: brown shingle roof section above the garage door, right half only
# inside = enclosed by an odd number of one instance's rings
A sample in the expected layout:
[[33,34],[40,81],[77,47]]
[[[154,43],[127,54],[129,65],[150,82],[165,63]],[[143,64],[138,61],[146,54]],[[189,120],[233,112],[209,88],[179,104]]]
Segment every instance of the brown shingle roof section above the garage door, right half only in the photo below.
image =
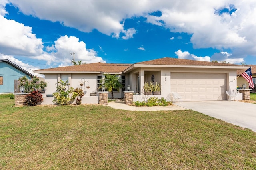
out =
[[[152,64],[152,65],[202,65],[202,66],[236,66],[234,64],[226,64],[226,63],[214,63],[208,61],[196,61],[189,59],[177,59],[177,58],[160,58],[154,59],[150,61],[144,61],[136,64]],[[241,65],[240,65],[241,66]]]

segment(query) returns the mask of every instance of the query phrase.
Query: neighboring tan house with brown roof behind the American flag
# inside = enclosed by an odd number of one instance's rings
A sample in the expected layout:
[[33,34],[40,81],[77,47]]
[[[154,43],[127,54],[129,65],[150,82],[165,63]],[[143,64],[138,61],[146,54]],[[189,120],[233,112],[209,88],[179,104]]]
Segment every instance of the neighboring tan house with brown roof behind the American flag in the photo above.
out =
[[236,72],[237,75],[237,86],[242,88],[242,85],[246,85],[246,89],[252,89],[252,92],[256,91],[256,65],[246,65],[248,68],[251,67],[252,70],[252,81],[254,84],[254,89],[250,88],[248,85],[248,81],[246,81],[246,79],[244,79],[244,77],[240,76],[242,73],[244,73],[244,71],[246,71],[246,69],[242,69],[242,70],[238,70]]

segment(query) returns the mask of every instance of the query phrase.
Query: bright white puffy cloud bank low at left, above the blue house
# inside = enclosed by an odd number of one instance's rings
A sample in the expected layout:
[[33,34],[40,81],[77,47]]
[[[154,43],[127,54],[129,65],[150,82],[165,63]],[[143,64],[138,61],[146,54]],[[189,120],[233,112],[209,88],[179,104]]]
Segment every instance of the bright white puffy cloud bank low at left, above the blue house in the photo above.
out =
[[48,65],[66,66],[71,65],[73,57],[70,56],[70,53],[75,52],[76,61],[82,60],[82,63],[105,62],[97,56],[96,51],[86,49],[85,43],[79,42],[76,37],[62,36],[55,41],[55,45],[47,46],[46,51],[43,51],[42,39],[36,38],[31,27],[8,20],[3,16],[0,16],[0,22],[0,46],[3,55],[28,57],[46,61]]

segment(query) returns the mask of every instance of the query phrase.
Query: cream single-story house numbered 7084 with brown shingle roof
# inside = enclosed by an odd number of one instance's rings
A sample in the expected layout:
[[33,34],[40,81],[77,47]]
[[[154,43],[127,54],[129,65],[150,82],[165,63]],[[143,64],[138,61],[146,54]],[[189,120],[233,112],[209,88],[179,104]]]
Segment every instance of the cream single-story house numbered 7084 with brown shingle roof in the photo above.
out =
[[[130,85],[130,91],[138,93],[134,95],[134,101],[143,101],[145,99],[144,83],[155,84],[157,82],[161,86],[161,93],[150,95],[150,97],[163,97],[172,101],[172,92],[176,92],[183,98],[183,101],[211,101],[229,99],[226,91],[236,89],[238,69],[248,69],[248,66],[165,57],[134,64],[73,65],[36,70],[34,73],[45,75],[48,86],[44,97],[56,91],[58,81],[68,80],[69,87],[84,89],[87,99],[84,99],[82,103],[90,103],[92,102],[90,93],[101,90],[98,88],[100,80],[104,74],[109,73],[118,75],[124,85],[119,92],[114,92],[115,98],[124,97],[124,91],[127,91],[127,86]],[[81,81],[84,82],[83,86],[80,86]],[[108,95],[110,97],[110,94]]]

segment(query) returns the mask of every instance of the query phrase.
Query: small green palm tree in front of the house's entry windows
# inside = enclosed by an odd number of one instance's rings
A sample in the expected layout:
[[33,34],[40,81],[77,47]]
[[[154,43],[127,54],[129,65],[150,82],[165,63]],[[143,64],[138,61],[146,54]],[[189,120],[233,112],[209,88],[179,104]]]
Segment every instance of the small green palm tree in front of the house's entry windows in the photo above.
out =
[[[119,81],[118,76],[113,74],[105,74],[105,80],[101,81],[101,83],[109,92],[111,92],[111,99],[114,99],[113,89],[119,91],[122,87],[122,83]],[[102,87],[102,85],[100,87]]]

